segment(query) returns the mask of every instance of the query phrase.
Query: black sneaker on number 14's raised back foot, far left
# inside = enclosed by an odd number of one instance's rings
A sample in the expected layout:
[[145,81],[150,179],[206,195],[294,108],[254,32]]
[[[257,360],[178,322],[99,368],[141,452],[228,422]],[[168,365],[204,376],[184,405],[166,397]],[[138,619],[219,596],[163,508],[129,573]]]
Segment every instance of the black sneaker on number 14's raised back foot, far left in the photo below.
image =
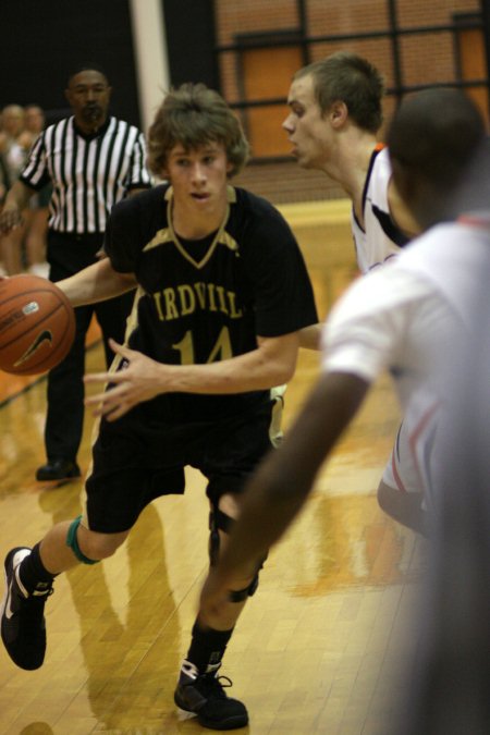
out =
[[52,592],[51,583],[38,585],[29,595],[21,581],[19,567],[30,549],[17,547],[5,556],[5,595],[1,614],[2,641],[14,663],[21,669],[39,669],[45,660],[45,602]]

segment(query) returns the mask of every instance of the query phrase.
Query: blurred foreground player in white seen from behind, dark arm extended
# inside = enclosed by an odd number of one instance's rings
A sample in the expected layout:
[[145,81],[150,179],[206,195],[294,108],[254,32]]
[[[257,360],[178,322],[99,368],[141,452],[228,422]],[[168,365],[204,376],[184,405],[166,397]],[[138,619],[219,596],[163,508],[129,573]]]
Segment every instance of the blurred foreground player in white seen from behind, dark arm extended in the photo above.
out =
[[[210,624],[234,580],[299,512],[323,460],[382,369],[392,371],[409,428],[433,419],[434,407],[444,402],[441,366],[454,344],[466,344],[460,339],[474,324],[474,285],[490,254],[488,217],[448,220],[452,194],[483,140],[481,117],[461,91],[426,90],[402,105],[389,135],[393,175],[420,228],[431,229],[359,279],[328,319],[321,377],[282,446],[252,478],[224,554],[210,571],[201,597]],[[415,448],[426,479],[433,440],[432,433],[430,442]],[[431,486],[425,490],[430,500]]]

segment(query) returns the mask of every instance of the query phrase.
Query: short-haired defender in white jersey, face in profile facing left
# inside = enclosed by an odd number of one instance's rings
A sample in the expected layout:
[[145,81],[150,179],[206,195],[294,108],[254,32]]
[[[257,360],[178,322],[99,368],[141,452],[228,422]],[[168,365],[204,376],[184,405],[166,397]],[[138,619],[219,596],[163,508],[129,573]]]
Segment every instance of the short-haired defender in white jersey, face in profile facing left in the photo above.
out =
[[[369,61],[340,51],[296,72],[283,123],[299,166],[323,171],[351,198],[363,273],[400,254],[419,231],[394,185],[388,149],[378,140],[383,94],[381,74]],[[319,348],[319,328],[306,330],[302,344]],[[409,441],[402,422],[378,500],[396,520],[420,531],[421,488]]]

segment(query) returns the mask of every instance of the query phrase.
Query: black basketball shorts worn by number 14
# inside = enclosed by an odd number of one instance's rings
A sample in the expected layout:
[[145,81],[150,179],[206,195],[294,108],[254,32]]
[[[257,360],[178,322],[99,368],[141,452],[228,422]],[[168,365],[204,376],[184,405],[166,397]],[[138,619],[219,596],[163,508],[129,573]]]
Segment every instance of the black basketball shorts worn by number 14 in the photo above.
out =
[[185,491],[186,465],[207,478],[212,502],[240,493],[272,446],[273,406],[265,400],[219,421],[156,426],[140,419],[102,420],[85,485],[84,525],[106,534],[128,530],[152,500]]

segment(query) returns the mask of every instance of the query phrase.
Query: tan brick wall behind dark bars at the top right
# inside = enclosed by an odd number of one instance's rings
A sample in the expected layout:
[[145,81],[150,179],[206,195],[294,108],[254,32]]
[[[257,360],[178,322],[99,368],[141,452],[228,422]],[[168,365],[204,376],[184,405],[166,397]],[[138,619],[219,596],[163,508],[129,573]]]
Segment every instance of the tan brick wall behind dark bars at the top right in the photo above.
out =
[[[478,12],[478,0],[397,0],[399,25],[405,28],[450,24],[454,13]],[[307,34],[355,34],[387,30],[388,0],[307,0]],[[237,34],[291,30],[298,27],[296,0],[215,0],[218,44],[232,44]],[[409,84],[446,82],[455,78],[451,34],[407,37],[402,42],[402,64]],[[392,86],[393,66],[387,39],[317,44],[313,60],[340,48],[368,57]],[[221,83],[230,101],[238,99],[234,54],[222,56]]]

